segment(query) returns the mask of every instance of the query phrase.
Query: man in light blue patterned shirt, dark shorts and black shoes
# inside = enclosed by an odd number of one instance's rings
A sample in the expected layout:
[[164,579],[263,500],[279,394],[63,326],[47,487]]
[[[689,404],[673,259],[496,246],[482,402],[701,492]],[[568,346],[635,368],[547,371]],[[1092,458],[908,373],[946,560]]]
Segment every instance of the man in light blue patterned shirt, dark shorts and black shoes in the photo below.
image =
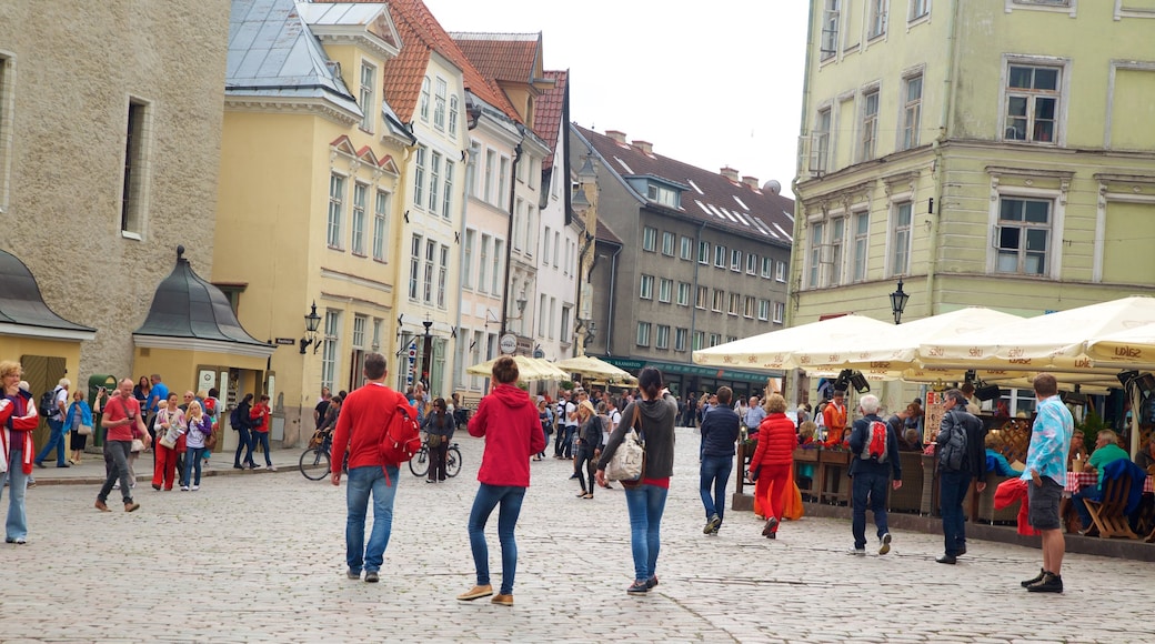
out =
[[1030,448],[1027,450],[1027,501],[1030,506],[1030,525],[1043,534],[1043,568],[1038,576],[1022,582],[1030,592],[1063,592],[1063,523],[1059,500],[1067,475],[1067,450],[1074,419],[1059,399],[1055,376],[1041,373],[1035,376],[1035,424],[1030,428]]

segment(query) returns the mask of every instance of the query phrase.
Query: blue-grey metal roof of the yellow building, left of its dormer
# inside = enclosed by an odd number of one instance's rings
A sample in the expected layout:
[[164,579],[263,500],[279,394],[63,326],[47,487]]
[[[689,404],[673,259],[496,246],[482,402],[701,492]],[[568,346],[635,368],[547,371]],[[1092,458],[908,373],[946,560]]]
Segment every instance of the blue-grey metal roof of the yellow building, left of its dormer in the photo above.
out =
[[320,98],[362,117],[335,69],[295,0],[232,0],[226,96]]

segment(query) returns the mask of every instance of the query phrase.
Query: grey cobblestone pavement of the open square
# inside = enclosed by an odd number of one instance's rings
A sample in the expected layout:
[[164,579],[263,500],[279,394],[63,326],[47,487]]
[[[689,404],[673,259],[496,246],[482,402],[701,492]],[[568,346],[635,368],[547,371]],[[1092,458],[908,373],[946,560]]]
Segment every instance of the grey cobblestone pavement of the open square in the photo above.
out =
[[[625,593],[621,489],[576,499],[571,465],[546,459],[532,463],[517,526],[516,605],[457,602],[474,583],[465,522],[482,451],[463,434],[456,479],[426,485],[402,471],[379,584],[345,578],[344,489],[286,466],[299,451],[276,452],[280,472],[209,477],[200,492],[154,492],[142,477],[134,514],[119,496],[111,514],[92,508],[97,486],[76,477],[103,470],[96,460],[60,471],[74,485],[29,491],[29,544],[0,548],[0,641],[1153,639],[1150,563],[1068,555],[1066,592],[1040,596],[1019,586],[1040,552],[1019,546],[971,540],[957,566],[941,566],[941,537],[896,532],[891,554],[855,557],[845,521],[788,522],[770,541],[748,512],[706,537],[690,429],[679,429],[661,585],[649,596]],[[495,524],[486,531],[494,585]]]

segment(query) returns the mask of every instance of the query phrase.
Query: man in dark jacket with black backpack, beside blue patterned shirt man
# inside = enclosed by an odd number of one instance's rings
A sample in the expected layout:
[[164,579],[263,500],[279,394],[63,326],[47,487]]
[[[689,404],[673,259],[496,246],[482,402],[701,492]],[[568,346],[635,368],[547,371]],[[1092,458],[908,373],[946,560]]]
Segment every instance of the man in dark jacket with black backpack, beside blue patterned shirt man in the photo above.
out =
[[[970,480],[977,481],[975,494],[982,494],[986,488],[986,429],[983,421],[967,412],[967,396],[959,389],[948,389],[944,394],[946,413],[939,424],[938,445],[934,454],[939,457],[939,504],[942,508],[942,537],[946,552],[934,561],[953,564],[961,555],[967,554],[967,523],[962,512],[962,500],[970,488]],[[962,458],[952,455],[961,442],[956,437],[952,444],[952,434],[966,434],[966,451]]]

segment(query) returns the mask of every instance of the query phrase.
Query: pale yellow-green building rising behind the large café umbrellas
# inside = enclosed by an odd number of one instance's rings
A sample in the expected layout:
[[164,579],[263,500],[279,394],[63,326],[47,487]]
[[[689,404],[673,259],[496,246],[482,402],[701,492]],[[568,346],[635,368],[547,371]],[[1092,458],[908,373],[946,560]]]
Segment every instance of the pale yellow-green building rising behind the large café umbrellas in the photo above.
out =
[[791,324],[891,320],[900,279],[903,320],[1155,285],[1155,40],[1132,3],[812,0]]

